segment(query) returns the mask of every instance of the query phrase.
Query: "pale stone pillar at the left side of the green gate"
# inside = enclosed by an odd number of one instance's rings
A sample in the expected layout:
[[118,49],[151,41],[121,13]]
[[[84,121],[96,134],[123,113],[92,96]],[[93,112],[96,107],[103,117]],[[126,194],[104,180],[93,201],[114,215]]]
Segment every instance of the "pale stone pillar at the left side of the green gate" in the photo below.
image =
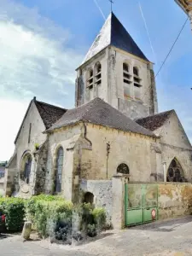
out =
[[115,175],[112,179],[112,224],[113,229],[125,227],[125,177]]

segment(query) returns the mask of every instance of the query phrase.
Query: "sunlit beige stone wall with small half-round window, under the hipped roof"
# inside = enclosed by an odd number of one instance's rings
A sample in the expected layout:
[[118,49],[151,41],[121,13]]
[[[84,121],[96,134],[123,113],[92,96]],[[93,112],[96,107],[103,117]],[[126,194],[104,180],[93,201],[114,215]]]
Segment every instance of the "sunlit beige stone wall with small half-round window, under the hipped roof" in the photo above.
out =
[[111,179],[121,163],[129,166],[131,181],[149,182],[151,173],[156,172],[156,153],[151,146],[158,143],[154,138],[90,124],[87,137],[92,143],[92,152],[87,155],[91,164],[84,170],[83,178]]

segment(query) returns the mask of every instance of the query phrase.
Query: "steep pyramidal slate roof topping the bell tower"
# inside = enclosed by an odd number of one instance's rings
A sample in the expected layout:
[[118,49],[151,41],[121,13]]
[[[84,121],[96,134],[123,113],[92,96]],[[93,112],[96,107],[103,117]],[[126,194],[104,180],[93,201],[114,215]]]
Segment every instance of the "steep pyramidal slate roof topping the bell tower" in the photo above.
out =
[[131,38],[131,35],[113,13],[108,16],[82,64],[90,60],[91,57],[99,53],[102,49],[108,47],[108,45],[113,45],[116,48],[123,49],[132,55],[148,61],[142,50],[139,49],[133,38]]

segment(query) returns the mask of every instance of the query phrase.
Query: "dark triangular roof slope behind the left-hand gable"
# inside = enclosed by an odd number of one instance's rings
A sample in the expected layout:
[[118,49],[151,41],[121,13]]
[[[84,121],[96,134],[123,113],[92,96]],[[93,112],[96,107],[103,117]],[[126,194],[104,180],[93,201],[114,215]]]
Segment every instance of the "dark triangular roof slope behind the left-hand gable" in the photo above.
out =
[[67,109],[65,108],[59,108],[44,102],[35,101],[35,105],[38,108],[38,113],[44,121],[46,129],[49,129],[49,127],[55,124],[58,119],[61,119],[63,113],[67,112]]

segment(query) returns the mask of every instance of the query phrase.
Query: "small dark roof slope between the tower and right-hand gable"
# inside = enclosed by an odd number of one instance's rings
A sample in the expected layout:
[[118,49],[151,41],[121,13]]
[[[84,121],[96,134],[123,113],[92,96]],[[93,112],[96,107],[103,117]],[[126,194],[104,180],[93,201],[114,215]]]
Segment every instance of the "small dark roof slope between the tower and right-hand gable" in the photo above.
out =
[[166,123],[166,120],[170,117],[172,113],[174,113],[174,110],[157,113],[154,115],[149,115],[146,118],[143,119],[137,119],[136,122],[138,125],[142,125],[144,128],[155,131],[158,128],[160,128],[162,125]]

